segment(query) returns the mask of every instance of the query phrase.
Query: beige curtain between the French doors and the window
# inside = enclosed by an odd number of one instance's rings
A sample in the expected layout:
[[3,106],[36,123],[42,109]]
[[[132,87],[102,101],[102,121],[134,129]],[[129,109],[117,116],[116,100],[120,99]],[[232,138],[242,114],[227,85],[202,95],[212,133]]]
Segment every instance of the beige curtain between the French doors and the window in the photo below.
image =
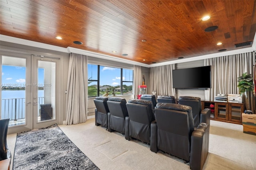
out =
[[87,119],[87,56],[70,53],[66,95],[66,125]]

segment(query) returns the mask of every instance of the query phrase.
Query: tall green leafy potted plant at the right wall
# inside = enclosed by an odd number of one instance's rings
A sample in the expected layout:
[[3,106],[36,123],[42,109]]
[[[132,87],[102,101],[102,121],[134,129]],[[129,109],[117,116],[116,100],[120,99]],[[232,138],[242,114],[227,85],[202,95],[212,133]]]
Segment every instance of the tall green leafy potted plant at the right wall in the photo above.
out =
[[250,94],[250,92],[253,89],[253,78],[251,74],[246,73],[242,73],[242,75],[240,77],[237,78],[238,81],[238,89],[240,94],[242,95],[242,93],[245,94],[246,97],[246,110],[251,110],[250,109],[250,98],[248,97]]

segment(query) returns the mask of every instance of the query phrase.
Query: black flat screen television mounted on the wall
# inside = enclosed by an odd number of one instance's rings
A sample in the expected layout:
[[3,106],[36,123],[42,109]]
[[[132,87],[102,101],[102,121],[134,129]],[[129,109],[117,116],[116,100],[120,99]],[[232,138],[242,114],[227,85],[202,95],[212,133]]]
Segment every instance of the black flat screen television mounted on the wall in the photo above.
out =
[[211,66],[173,70],[172,85],[175,89],[211,88]]

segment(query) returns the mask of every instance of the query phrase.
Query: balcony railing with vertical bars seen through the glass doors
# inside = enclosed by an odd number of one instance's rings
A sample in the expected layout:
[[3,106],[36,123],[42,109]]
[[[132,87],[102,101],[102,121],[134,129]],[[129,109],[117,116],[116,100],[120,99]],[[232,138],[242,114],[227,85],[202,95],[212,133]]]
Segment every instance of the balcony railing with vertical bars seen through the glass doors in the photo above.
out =
[[[38,116],[40,105],[44,104],[44,97],[38,97]],[[25,98],[2,99],[1,119],[17,121],[25,118]]]

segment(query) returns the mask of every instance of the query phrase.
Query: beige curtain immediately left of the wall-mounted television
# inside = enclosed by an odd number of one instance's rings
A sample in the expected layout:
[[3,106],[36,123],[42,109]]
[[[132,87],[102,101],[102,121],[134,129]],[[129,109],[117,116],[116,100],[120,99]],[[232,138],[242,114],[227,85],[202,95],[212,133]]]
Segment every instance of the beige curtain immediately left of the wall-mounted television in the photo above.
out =
[[175,89],[172,87],[172,70],[175,64],[162,65],[150,68],[150,87],[156,91],[156,95],[175,96]]

